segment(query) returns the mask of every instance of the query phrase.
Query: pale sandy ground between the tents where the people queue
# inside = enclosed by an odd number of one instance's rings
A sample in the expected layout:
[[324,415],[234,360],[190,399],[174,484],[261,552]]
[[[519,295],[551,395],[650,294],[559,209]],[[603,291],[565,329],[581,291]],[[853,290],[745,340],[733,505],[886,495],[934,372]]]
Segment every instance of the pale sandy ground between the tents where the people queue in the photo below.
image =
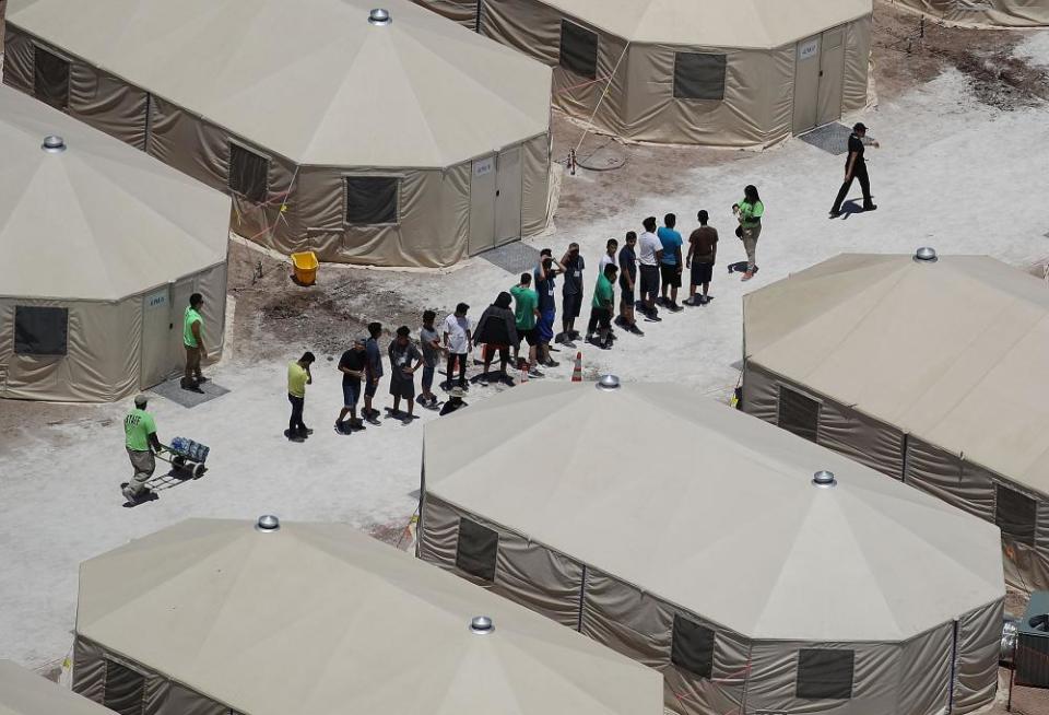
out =
[[[727,399],[739,378],[744,292],[842,251],[910,253],[932,245],[1025,269],[1046,262],[1049,218],[1025,197],[1049,189],[1049,122],[1040,99],[1047,96],[1049,31],[981,35],[927,25],[908,54],[906,38],[918,20],[880,7],[876,21],[880,102],[844,119],[862,119],[882,143],[869,151],[880,206],[874,213],[828,220],[842,157],[802,141],[736,152],[584,139],[580,157],[622,168],[565,176],[554,224],[528,243],[559,253],[578,242],[590,266],[588,295],[605,241],[640,231],[646,215],[676,212],[688,232],[696,210],[705,208],[722,230],[716,300],[643,324],[644,338],[623,336],[613,351],[584,348],[588,376],[672,380]],[[563,159],[580,138],[579,126],[556,119],[555,156]],[[767,211],[762,270],[741,283],[724,266],[743,259],[729,208],[746,184],[758,186]],[[318,285],[303,289],[270,255],[240,244],[232,244],[231,255],[229,341],[221,363],[208,368],[231,392],[191,410],[160,397],[151,403],[162,438],[177,434],[212,447],[203,479],[123,507],[118,484],[130,470],[119,425],[127,405],[0,403],[0,658],[39,670],[60,661],[71,644],[78,564],[190,516],[275,513],[400,539],[416,506],[423,427],[435,414],[421,410],[411,426],[386,422],[335,435],[330,425],[341,396],[333,361],[368,320],[416,329],[423,308],[443,316],[459,301],[470,303],[476,318],[515,277],[484,258],[429,272],[323,266]],[[284,371],[306,349],[319,356],[306,401],[306,421],[317,432],[297,445],[281,434]],[[562,365],[546,379],[568,379],[569,355],[555,356]],[[385,388],[380,405],[389,403]],[[495,390],[474,387],[468,401]],[[1026,712],[1044,705],[1032,702]]]

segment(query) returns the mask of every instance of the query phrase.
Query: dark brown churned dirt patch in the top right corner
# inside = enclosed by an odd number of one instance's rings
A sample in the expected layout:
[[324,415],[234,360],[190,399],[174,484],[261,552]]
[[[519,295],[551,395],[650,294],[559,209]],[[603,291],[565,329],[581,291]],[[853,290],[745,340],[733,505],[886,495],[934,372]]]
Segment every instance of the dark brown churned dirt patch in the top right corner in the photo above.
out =
[[1013,56],[1028,34],[947,27],[879,2],[872,38],[879,95],[898,96],[954,68],[988,106],[1009,112],[1037,105],[1049,98],[1049,69]]

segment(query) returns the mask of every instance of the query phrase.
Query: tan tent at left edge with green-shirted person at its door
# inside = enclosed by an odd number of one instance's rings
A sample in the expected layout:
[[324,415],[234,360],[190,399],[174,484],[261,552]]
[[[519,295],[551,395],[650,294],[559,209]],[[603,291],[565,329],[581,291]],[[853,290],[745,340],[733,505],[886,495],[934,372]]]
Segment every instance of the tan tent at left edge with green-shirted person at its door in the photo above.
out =
[[220,353],[226,197],[10,87],[0,156],[0,397],[108,401],[163,382],[185,363],[192,293]]

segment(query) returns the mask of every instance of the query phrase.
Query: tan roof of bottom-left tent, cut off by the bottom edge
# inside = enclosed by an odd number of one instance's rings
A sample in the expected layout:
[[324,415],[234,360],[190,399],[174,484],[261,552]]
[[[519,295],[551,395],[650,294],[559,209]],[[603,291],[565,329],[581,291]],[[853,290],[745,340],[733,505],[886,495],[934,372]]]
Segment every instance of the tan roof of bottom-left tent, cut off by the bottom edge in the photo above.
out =
[[81,566],[76,631],[249,715],[662,714],[656,671],[345,525],[132,541]]

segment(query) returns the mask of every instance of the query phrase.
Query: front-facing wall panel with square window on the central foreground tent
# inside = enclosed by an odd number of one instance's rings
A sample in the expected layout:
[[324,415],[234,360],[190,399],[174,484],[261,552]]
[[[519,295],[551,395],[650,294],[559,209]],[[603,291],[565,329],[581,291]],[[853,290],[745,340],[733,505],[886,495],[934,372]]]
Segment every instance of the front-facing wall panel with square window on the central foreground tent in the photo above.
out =
[[[799,654],[820,648],[851,652],[852,696],[809,699],[798,696]],[[900,646],[881,643],[756,642],[751,650],[746,685],[746,713],[833,713],[834,715],[892,715],[897,708],[896,673]],[[936,711],[931,711],[932,715]],[[910,711],[910,715],[927,715]]]

